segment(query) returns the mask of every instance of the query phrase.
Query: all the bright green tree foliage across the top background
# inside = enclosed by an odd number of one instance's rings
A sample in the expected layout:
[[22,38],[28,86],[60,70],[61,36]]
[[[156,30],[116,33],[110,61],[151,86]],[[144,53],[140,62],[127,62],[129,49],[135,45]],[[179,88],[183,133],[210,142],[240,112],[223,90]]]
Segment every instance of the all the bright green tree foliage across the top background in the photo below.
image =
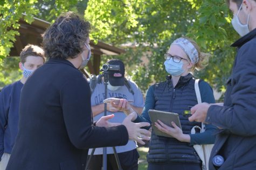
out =
[[[225,90],[225,80],[230,74],[235,55],[230,45],[239,38],[230,24],[231,17],[225,0],[10,2],[0,3],[2,58],[9,54],[14,36],[18,34],[13,28],[18,28],[17,20],[22,17],[22,12],[26,12],[27,21],[31,22],[32,16],[52,21],[63,11],[83,13],[86,9],[85,18],[93,25],[91,39],[95,42],[103,40],[115,46],[129,45],[127,53],[118,58],[128,64],[128,74],[143,91],[150,83],[165,79],[167,73],[163,55],[170,43],[180,36],[189,36],[198,42],[202,51],[212,54],[206,69],[195,72],[195,75],[207,80],[219,91]],[[13,11],[19,14],[13,17]],[[147,64],[142,61],[143,55],[147,56]],[[107,57],[102,59],[105,62]]]

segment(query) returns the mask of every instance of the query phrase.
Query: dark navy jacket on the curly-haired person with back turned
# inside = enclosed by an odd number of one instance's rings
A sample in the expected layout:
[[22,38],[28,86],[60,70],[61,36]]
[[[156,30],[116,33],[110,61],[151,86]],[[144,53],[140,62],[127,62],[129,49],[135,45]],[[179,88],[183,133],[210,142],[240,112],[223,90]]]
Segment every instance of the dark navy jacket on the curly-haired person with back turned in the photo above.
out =
[[93,126],[91,91],[67,60],[50,59],[26,81],[8,170],[84,170],[88,148],[125,145],[124,125]]

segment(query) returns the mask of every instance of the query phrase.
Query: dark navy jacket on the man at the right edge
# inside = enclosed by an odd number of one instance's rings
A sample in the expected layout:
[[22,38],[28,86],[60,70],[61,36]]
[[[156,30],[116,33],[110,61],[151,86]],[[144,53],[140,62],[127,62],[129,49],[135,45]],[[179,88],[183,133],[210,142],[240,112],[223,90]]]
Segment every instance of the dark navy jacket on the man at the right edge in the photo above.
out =
[[224,107],[211,106],[206,121],[222,128],[216,136],[212,158],[225,161],[219,169],[256,169],[256,29],[233,43],[238,53],[227,80]]

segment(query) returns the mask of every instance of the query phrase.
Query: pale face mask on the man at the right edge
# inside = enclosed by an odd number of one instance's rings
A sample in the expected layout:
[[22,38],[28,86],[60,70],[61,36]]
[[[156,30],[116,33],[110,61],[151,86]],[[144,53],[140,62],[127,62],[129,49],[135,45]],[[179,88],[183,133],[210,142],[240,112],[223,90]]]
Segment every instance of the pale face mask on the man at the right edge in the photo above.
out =
[[236,30],[236,32],[237,32],[240,36],[244,36],[244,35],[246,35],[246,34],[248,34],[248,33],[250,32],[250,30],[249,30],[249,25],[248,25],[248,24],[249,24],[250,13],[248,14],[247,24],[245,24],[245,25],[243,25],[243,24],[240,22],[239,18],[238,18],[238,14],[239,14],[239,12],[240,12],[242,6],[243,6],[243,3],[241,4],[241,6],[240,6],[240,8],[239,8],[238,13],[237,13],[236,15],[234,15],[234,17],[233,17],[233,19],[232,19],[232,21],[231,21],[234,30]]

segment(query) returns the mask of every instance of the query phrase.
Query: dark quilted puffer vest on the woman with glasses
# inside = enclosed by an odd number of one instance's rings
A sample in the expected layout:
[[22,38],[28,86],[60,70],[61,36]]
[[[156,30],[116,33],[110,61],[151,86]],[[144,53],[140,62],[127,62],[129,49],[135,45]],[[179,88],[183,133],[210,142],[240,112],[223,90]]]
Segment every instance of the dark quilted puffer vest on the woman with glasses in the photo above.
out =
[[[184,134],[190,134],[193,126],[200,126],[200,123],[189,122],[188,117],[182,116],[184,110],[189,110],[189,106],[197,104],[195,79],[191,74],[181,77],[175,88],[171,83],[171,76],[169,76],[165,82],[155,84],[154,95],[154,109],[180,114],[179,119]],[[175,138],[157,136],[154,131],[149,144],[147,160],[149,163],[191,162],[200,164],[195,149],[189,143],[179,142]]]

